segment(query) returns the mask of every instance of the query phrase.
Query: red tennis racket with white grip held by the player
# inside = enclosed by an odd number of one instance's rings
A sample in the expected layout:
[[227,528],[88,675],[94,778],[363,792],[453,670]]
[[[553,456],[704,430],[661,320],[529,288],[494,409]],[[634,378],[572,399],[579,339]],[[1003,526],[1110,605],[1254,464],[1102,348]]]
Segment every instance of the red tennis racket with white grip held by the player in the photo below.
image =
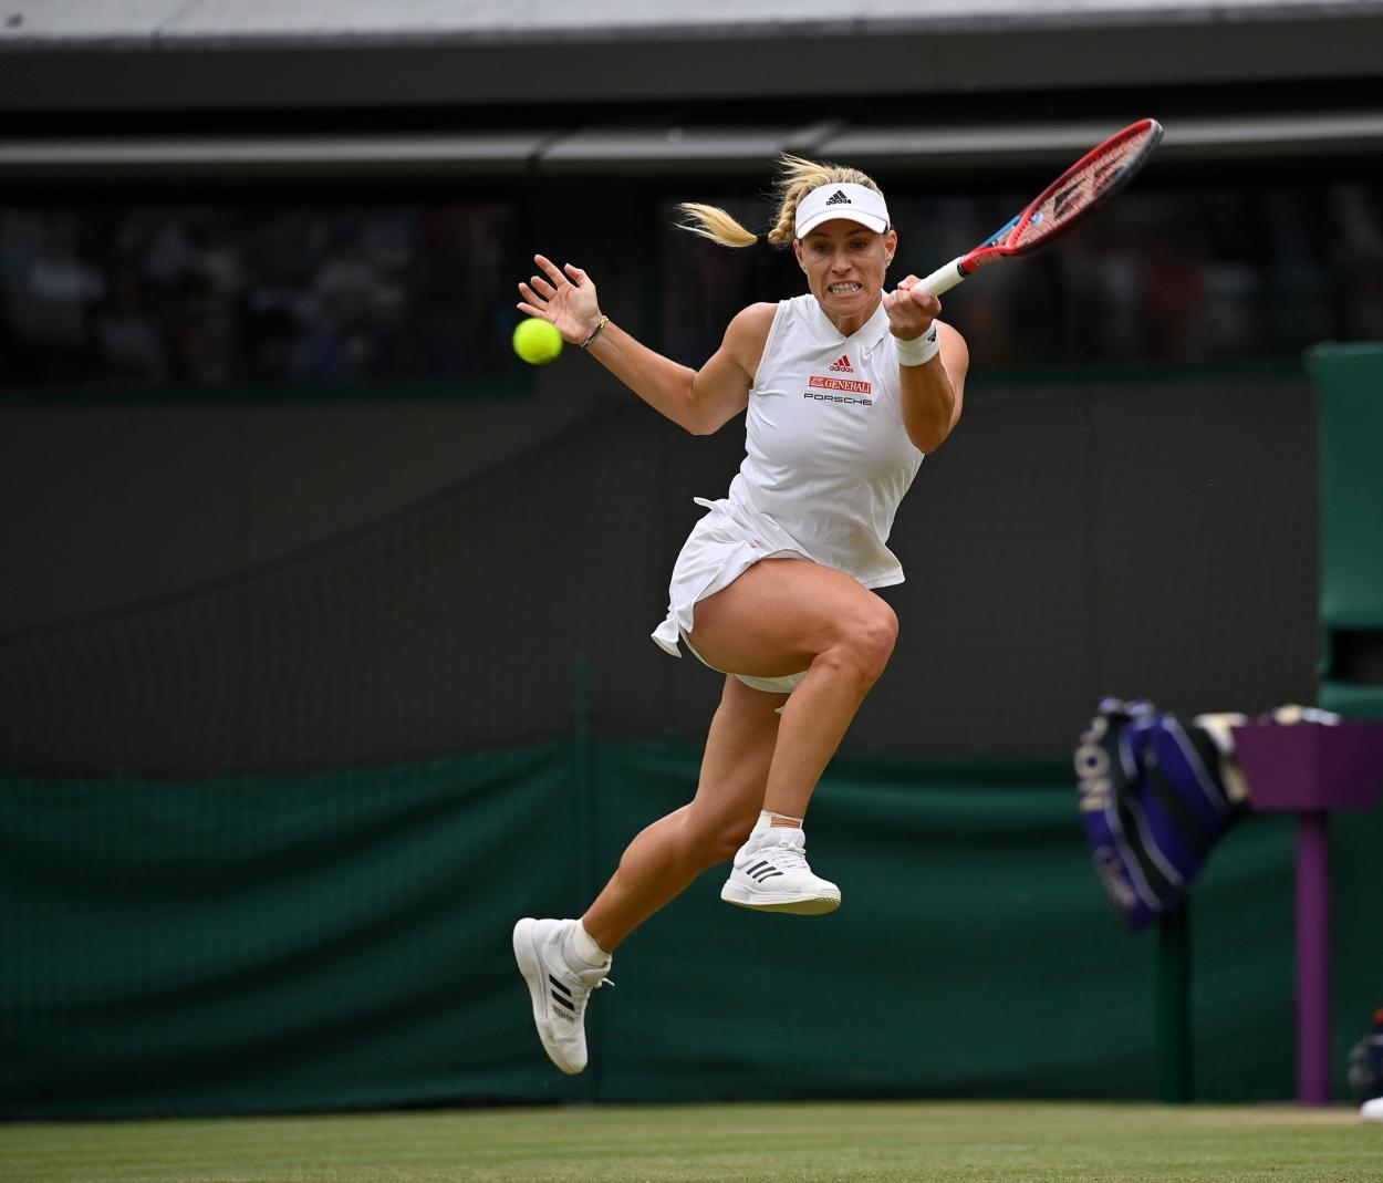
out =
[[1080,219],[1098,209],[1129,184],[1162,138],[1156,119],[1140,119],[1087,152],[1044,188],[1022,213],[968,255],[938,267],[917,286],[934,296],[963,284],[981,267],[1018,259],[1050,246]]

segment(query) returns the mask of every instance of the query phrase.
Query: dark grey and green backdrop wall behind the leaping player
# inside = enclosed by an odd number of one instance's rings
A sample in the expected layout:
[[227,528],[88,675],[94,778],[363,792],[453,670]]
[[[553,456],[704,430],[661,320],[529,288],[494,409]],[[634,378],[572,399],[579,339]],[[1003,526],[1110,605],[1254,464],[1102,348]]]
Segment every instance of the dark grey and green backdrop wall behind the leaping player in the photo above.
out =
[[[813,805],[845,906],[751,916],[707,876],[621,949],[571,1081],[510,926],[578,913],[693,791],[718,679],[647,632],[743,443],[582,397],[494,455],[492,407],[7,412],[0,1112],[1155,1094],[1152,937],[1069,753],[1102,693],[1312,697],[1301,375],[972,387]],[[415,447],[443,426],[456,479]],[[1337,1071],[1383,989],[1380,837],[1336,820]],[[1247,819],[1195,888],[1198,1096],[1292,1096],[1292,933],[1289,822]]]

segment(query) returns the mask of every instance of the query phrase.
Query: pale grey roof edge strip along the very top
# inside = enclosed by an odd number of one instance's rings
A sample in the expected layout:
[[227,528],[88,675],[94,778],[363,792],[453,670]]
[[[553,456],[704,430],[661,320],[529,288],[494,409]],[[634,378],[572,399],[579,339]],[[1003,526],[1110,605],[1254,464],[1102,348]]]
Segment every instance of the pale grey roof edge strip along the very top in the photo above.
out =
[[445,44],[841,37],[891,33],[1012,33],[1148,24],[1329,21],[1383,15],[1383,0],[701,0],[669,14],[646,0],[44,0],[0,11],[3,51],[365,48]]

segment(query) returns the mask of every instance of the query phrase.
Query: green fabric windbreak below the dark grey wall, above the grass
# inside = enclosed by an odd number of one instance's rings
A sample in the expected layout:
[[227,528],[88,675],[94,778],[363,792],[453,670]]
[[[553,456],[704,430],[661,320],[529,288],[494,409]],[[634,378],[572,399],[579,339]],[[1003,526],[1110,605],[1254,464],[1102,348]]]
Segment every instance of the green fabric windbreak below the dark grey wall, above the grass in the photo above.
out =
[[[839,762],[833,916],[704,876],[621,949],[592,1068],[542,1054],[509,952],[686,798],[682,744],[376,769],[0,785],[0,1112],[561,1099],[1155,1093],[1153,939],[1088,866],[1061,765]],[[1380,816],[1336,823],[1336,1068],[1376,1003]],[[1293,1092],[1292,838],[1231,832],[1192,912],[1196,1093]],[[1337,1081],[1343,1090],[1343,1083]]]

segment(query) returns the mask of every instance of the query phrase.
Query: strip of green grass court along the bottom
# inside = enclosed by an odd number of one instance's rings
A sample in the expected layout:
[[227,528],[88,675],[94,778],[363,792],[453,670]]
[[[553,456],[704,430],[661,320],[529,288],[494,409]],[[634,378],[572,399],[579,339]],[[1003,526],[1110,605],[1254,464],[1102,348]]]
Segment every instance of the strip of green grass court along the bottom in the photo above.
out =
[[1377,1183],[1354,1108],[600,1106],[0,1126],[22,1183]]

